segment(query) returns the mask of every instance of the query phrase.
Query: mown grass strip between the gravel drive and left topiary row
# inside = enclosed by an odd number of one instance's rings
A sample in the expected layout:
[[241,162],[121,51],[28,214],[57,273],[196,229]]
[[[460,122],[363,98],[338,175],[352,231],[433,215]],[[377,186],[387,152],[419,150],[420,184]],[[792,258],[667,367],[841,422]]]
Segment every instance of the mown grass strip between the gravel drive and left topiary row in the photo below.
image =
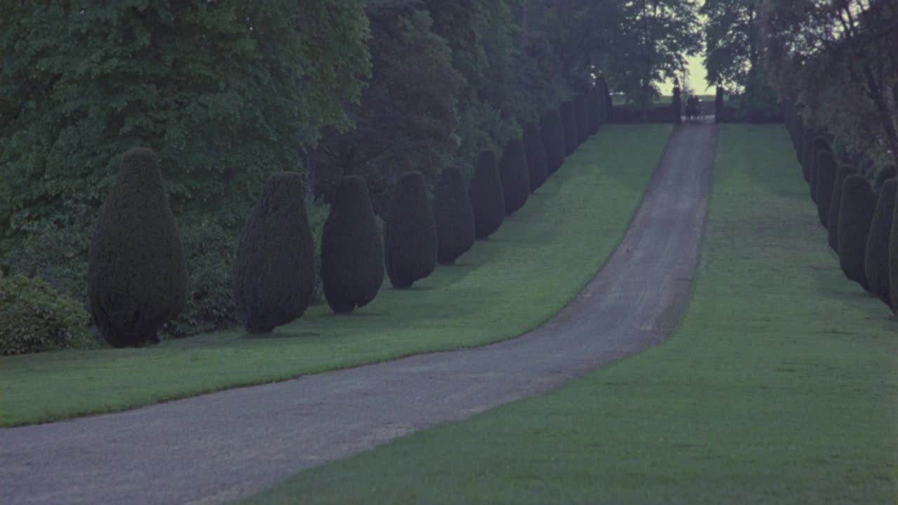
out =
[[314,306],[266,337],[217,332],[151,349],[0,359],[0,425],[112,412],[515,337],[594,277],[629,226],[671,127],[605,126],[489,240],[353,315]]

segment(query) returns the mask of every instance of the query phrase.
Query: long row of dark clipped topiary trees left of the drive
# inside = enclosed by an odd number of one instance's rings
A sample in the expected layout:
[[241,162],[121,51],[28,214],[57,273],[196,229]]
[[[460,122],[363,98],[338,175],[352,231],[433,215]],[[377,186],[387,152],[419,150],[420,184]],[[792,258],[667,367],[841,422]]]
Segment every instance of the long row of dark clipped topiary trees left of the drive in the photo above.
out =
[[[403,173],[384,219],[383,240],[367,184],[339,184],[321,235],[321,282],[336,314],[374,300],[384,272],[393,288],[409,288],[453,264],[524,207],[530,193],[559,170],[566,155],[608,119],[603,83],[540,124],[527,123],[501,157],[480,153],[470,183],[447,168],[433,203],[421,173]],[[262,188],[237,246],[234,300],[247,332],[271,332],[304,314],[313,301],[314,242],[300,173],[274,173]],[[129,150],[97,218],[89,258],[92,321],[114,347],[157,341],[163,323],[186,303],[187,265],[163,190],[157,156]]]

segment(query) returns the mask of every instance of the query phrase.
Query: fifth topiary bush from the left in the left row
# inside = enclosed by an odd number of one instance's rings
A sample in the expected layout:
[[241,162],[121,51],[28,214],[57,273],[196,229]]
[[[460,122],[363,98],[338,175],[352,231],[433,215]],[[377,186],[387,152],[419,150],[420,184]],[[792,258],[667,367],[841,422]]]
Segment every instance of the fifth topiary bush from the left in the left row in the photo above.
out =
[[451,265],[474,245],[474,210],[457,166],[445,168],[436,185],[434,219],[436,261]]

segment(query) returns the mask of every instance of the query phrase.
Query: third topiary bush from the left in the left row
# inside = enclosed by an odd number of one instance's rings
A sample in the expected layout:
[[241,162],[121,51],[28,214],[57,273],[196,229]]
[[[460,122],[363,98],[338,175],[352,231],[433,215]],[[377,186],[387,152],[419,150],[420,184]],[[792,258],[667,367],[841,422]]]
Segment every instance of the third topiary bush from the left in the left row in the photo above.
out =
[[321,232],[321,285],[336,314],[371,303],[383,284],[383,241],[365,179],[339,182]]

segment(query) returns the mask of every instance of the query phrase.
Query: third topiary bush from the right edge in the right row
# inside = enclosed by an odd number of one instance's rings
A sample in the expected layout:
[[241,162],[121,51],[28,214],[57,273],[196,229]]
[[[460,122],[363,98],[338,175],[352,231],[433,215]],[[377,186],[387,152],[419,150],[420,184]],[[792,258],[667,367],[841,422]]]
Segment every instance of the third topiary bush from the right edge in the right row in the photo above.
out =
[[[835,202],[833,202],[835,205]],[[839,264],[845,276],[869,291],[864,259],[870,224],[876,212],[876,195],[867,179],[849,175],[842,185],[839,209]]]

